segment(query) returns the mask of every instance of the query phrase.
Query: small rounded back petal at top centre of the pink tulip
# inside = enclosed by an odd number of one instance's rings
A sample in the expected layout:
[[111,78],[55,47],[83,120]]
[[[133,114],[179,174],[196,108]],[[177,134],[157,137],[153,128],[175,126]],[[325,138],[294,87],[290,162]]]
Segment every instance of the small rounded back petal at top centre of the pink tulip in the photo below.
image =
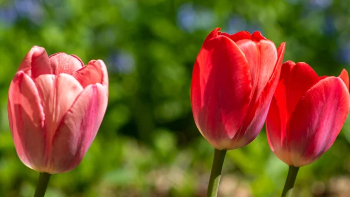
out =
[[84,66],[82,60],[76,55],[68,55],[65,53],[56,53],[49,57],[54,74],[60,73],[72,74],[74,71]]

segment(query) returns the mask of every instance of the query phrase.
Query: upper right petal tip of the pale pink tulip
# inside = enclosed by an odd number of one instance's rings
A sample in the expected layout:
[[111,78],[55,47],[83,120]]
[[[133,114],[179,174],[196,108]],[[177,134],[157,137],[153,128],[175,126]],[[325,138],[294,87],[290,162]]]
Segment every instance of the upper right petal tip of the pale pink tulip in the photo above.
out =
[[91,60],[88,65],[72,74],[85,88],[90,84],[101,83],[108,93],[108,73],[102,60]]

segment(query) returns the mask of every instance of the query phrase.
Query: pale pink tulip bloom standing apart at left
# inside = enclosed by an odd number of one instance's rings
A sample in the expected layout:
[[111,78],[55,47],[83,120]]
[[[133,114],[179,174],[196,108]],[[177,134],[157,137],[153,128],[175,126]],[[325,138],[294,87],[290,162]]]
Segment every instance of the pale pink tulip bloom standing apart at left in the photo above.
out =
[[19,159],[50,174],[74,169],[105,115],[108,74],[102,60],[88,65],[75,55],[48,57],[34,46],[24,57],[8,95],[10,130]]

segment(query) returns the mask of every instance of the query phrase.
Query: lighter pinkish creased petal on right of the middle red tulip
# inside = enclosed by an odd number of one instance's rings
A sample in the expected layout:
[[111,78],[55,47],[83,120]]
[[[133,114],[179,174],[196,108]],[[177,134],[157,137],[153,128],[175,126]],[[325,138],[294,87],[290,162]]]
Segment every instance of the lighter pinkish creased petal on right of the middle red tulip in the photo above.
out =
[[268,40],[257,43],[244,39],[236,43],[249,63],[253,90],[251,102],[255,104],[275,69],[278,58],[276,46]]

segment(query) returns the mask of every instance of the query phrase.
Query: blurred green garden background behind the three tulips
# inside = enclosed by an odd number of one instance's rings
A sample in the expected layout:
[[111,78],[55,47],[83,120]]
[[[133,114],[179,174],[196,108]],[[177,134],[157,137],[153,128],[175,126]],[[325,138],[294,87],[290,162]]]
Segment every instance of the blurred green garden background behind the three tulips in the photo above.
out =
[[[213,148],[194,125],[192,66],[215,27],[259,30],[284,61],[319,75],[350,65],[349,0],[0,0],[0,197],[32,197],[38,173],[18,159],[7,91],[33,45],[103,59],[109,105],[82,163],[52,176],[46,197],[205,197]],[[302,167],[300,197],[350,196],[350,121],[319,161]],[[227,153],[220,197],[278,197],[288,167],[265,130]]]

